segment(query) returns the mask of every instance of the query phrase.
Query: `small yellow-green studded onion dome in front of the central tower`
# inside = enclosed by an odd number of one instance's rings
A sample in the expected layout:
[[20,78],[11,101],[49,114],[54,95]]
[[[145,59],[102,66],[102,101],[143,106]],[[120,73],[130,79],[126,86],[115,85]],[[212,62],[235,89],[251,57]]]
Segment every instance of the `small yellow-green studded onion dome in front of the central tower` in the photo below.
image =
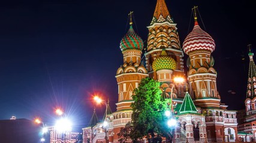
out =
[[156,58],[155,61],[153,61],[152,67],[155,71],[162,69],[175,70],[177,67],[177,63],[173,58],[168,57],[166,52],[163,50],[161,55]]

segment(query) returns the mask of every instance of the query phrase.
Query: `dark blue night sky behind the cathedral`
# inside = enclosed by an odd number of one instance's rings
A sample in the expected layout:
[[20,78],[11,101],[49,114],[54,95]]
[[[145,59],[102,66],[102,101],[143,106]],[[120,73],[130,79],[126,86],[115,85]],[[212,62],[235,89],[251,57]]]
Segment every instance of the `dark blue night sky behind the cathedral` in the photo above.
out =
[[[213,52],[221,102],[244,108],[248,48],[256,54],[256,8],[249,1],[171,1],[168,10],[183,43],[198,5],[199,24],[215,40]],[[156,0],[8,1],[0,4],[0,120],[57,118],[61,107],[76,128],[88,125],[92,95],[109,98],[116,111],[116,70],[123,63],[119,43],[134,11],[134,29],[146,41]],[[190,25],[189,25],[190,23]],[[188,30],[189,29],[189,30]],[[184,57],[186,61],[187,56]],[[242,60],[245,58],[245,60]],[[95,105],[102,119],[104,105]]]

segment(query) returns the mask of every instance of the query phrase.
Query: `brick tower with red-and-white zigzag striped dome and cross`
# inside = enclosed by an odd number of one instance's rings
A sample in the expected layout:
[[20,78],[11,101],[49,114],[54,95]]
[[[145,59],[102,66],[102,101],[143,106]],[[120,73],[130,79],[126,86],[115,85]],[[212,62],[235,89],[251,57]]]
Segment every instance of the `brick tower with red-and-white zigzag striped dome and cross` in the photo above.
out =
[[200,28],[194,8],[194,28],[183,42],[183,50],[189,55],[187,60],[189,89],[199,107],[219,108],[221,98],[216,87],[216,70],[213,68],[212,52],[215,42]]

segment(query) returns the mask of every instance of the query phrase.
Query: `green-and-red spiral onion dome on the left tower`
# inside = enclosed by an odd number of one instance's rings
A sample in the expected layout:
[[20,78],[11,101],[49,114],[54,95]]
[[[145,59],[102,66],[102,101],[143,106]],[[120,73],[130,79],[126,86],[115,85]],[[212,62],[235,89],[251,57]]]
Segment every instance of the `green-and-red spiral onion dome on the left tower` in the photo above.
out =
[[120,48],[122,51],[125,49],[138,49],[141,51],[143,49],[143,41],[140,36],[134,32],[132,26],[129,27],[127,34],[122,38]]

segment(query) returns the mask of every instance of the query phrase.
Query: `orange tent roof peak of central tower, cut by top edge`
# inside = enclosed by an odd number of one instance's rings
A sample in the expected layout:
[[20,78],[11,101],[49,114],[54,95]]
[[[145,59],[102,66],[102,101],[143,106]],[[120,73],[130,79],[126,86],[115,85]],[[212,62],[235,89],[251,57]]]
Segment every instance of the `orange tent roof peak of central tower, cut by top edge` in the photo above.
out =
[[155,23],[156,21],[158,22],[169,21],[173,23],[173,21],[171,20],[171,15],[165,4],[165,0],[157,0],[156,2],[155,12],[153,14],[153,20],[151,24]]

